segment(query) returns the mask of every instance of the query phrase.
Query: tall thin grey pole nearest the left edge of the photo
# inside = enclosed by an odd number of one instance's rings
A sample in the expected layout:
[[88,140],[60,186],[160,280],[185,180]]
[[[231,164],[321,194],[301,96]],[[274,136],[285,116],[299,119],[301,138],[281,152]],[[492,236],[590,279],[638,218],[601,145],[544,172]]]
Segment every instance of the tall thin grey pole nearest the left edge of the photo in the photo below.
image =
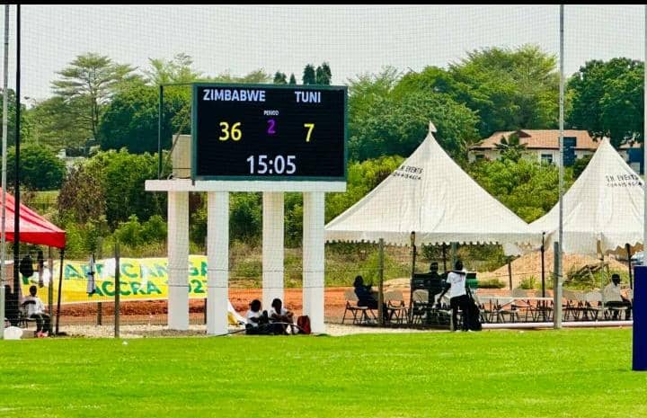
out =
[[[8,105],[9,100],[9,4],[4,4],[4,66],[3,66],[3,138],[2,138],[2,232],[0,233],[0,318],[4,326],[4,283],[6,283],[6,266],[4,265],[6,253],[6,138],[8,125]],[[51,311],[49,311],[51,312]],[[4,333],[0,333],[0,340],[4,338]]]

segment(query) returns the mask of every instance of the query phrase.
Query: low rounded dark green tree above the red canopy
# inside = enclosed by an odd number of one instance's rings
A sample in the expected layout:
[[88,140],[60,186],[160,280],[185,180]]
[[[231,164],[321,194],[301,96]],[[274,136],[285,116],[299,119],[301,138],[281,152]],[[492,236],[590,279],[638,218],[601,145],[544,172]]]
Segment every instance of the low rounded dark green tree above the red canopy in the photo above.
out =
[[[7,150],[7,183],[15,179],[15,147]],[[34,191],[55,190],[66,175],[66,165],[49,147],[33,142],[21,145],[20,182]]]

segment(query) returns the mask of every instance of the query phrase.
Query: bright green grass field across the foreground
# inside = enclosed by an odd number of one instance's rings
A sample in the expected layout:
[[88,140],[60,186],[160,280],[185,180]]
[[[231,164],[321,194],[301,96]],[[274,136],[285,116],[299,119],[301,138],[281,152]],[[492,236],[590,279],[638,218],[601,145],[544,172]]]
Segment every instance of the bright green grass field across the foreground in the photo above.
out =
[[631,329],[0,342],[3,417],[647,416]]

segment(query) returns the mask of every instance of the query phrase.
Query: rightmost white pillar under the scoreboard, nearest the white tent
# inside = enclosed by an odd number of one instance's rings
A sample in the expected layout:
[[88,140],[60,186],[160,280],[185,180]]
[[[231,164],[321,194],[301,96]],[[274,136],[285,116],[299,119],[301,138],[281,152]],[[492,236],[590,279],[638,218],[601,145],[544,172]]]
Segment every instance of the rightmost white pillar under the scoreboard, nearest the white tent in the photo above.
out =
[[313,333],[325,333],[323,323],[323,192],[304,193],[303,307]]

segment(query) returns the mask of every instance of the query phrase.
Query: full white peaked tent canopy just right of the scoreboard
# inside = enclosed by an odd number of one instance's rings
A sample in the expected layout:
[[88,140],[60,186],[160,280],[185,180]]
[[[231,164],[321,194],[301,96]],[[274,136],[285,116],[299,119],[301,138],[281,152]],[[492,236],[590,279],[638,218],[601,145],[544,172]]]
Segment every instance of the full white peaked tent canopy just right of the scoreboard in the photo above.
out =
[[327,241],[539,245],[541,233],[484,191],[430,133],[394,173],[325,227]]

